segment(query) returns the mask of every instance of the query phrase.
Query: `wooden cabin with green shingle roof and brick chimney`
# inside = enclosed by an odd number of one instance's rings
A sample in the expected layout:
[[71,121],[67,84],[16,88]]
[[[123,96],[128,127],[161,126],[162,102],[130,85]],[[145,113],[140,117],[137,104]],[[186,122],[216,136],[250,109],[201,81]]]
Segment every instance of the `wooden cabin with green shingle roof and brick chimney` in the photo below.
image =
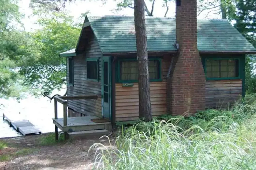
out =
[[[245,95],[245,54],[256,49],[227,20],[197,20],[184,10],[188,2],[177,7],[177,20],[146,17],[153,116],[224,107]],[[97,95],[68,101],[69,116],[138,119],[134,17],[86,16],[76,48],[60,57],[67,95]]]

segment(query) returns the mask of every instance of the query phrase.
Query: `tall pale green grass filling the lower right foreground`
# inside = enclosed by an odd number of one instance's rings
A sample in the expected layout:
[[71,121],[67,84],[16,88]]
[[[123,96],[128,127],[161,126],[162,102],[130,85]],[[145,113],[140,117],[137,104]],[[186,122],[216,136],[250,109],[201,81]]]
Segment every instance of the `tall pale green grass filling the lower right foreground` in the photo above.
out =
[[[136,124],[123,129],[117,149],[101,147],[95,168],[256,169],[255,111],[252,95],[229,111],[208,110],[187,119]],[[138,130],[145,124],[147,130]]]

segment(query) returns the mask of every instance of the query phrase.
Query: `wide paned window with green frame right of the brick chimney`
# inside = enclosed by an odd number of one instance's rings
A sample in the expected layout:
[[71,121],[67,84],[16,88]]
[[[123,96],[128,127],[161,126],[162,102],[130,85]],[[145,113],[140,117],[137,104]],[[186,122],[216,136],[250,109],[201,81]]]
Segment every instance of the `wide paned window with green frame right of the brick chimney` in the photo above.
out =
[[205,73],[208,79],[239,78],[239,59],[205,59]]

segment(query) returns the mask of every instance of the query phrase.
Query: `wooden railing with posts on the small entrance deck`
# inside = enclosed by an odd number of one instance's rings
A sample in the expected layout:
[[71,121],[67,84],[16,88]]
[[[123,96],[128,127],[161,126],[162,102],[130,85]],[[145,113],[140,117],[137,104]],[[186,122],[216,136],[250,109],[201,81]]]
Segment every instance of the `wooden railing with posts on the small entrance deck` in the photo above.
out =
[[[63,104],[63,126],[67,126],[67,100],[88,100],[97,99],[97,95],[84,95],[84,96],[55,96],[54,97],[54,119],[58,119],[57,102]],[[67,132],[64,132],[64,139],[67,139]],[[58,127],[55,125],[55,140],[58,140]]]

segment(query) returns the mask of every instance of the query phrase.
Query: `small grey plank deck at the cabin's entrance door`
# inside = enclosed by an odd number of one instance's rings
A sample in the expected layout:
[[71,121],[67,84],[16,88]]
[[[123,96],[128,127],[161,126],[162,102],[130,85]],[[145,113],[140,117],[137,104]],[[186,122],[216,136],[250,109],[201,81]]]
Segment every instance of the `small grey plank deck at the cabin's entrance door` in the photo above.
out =
[[110,122],[95,123],[91,119],[96,119],[97,116],[84,117],[67,117],[67,126],[64,125],[64,119],[53,119],[53,123],[63,132],[89,131],[97,129],[109,129]]

